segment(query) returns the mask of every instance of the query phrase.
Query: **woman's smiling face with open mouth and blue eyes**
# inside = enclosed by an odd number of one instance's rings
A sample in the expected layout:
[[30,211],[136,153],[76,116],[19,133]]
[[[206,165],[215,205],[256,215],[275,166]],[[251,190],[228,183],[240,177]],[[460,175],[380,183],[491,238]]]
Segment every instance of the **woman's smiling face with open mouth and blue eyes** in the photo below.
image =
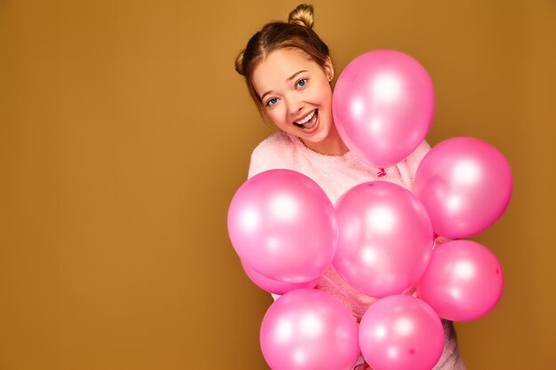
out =
[[252,80],[266,114],[279,129],[306,144],[318,144],[329,137],[334,125],[333,74],[330,59],[321,67],[303,51],[279,49],[258,63]]

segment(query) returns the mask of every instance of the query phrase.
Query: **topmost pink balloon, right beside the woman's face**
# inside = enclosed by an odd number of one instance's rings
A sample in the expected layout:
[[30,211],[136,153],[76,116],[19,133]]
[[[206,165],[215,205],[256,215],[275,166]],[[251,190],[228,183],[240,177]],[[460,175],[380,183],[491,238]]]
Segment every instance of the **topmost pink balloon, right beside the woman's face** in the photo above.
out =
[[332,113],[353,154],[377,168],[389,167],[425,139],[433,121],[433,83],[409,55],[369,51],[339,75]]

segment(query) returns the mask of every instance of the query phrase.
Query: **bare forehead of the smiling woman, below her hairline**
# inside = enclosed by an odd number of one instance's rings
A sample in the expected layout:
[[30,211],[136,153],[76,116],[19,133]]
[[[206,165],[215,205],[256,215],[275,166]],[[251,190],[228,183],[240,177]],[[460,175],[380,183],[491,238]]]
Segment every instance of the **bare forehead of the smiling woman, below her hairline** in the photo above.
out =
[[297,49],[272,51],[253,70],[253,85],[258,93],[274,90],[287,84],[286,80],[301,70],[319,71],[321,67],[313,59]]

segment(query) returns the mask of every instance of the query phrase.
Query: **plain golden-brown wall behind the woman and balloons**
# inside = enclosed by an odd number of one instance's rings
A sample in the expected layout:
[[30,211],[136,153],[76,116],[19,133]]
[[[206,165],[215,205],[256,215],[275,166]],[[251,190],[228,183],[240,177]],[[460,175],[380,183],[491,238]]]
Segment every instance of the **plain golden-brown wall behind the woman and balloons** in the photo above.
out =
[[[0,0],[0,369],[264,369],[271,298],[226,212],[273,132],[234,58],[298,3]],[[510,207],[473,238],[502,301],[470,370],[554,369],[556,2],[317,1],[338,71],[395,49],[433,78],[432,145],[496,146]]]

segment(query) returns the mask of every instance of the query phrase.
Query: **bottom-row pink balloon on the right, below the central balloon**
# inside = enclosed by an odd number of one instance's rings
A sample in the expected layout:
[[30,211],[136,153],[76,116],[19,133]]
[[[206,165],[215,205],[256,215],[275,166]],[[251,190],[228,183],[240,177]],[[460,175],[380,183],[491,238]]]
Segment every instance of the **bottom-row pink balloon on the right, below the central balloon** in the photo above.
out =
[[441,319],[423,301],[391,295],[372,304],[361,319],[363,358],[375,370],[430,370],[441,358]]

